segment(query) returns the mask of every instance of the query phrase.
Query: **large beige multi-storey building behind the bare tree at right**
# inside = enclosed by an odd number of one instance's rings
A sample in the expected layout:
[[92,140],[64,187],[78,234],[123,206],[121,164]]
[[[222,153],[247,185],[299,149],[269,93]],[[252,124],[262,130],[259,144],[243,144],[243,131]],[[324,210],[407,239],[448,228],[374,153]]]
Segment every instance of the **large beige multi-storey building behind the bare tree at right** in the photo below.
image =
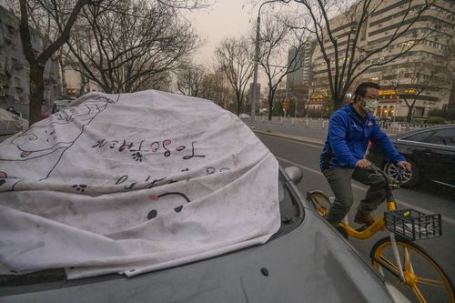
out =
[[[408,116],[410,108],[413,117],[428,116],[430,109],[447,106],[450,95],[454,94],[454,74],[448,66],[454,53],[455,1],[437,1],[420,16],[418,22],[395,39],[394,36],[416,18],[424,1],[414,1],[410,8],[409,3],[407,0],[373,1],[370,7],[375,9],[369,12],[359,33],[356,32],[358,24],[355,21],[358,16],[349,19],[347,15],[359,15],[361,9],[357,5],[360,3],[329,21],[331,33],[339,47],[339,64],[344,61],[349,35],[359,35],[357,54],[349,58],[353,64],[359,58],[363,59],[362,51],[368,54],[371,50],[378,50],[359,66],[359,70],[369,68],[350,87],[352,92],[362,81],[379,83],[381,89],[376,116]],[[404,21],[403,16],[406,16]],[[333,66],[334,46],[329,38],[326,38],[325,45]],[[409,51],[403,51],[410,46]],[[328,68],[319,45],[313,58],[311,86],[315,91],[319,90],[318,94],[314,94],[313,101],[320,103],[331,96]],[[347,62],[349,64],[349,60]],[[407,102],[413,106],[408,106]]]

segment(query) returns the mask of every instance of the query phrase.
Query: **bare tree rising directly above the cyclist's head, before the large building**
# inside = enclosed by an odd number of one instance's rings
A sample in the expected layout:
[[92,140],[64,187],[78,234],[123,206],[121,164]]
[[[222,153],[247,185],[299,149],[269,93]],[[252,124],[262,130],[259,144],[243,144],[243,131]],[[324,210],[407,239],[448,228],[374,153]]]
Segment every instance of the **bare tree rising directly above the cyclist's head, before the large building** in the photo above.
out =
[[[369,18],[376,15],[383,8],[384,0],[363,0],[355,5],[348,6],[346,1],[339,0],[294,0],[295,3],[305,8],[305,15],[311,19],[308,30],[315,36],[320,53],[327,66],[329,95],[335,108],[345,102],[345,96],[352,83],[369,68],[385,66],[409,52],[415,45],[420,44],[431,35],[428,30],[423,35],[412,35],[410,31],[414,25],[422,21],[422,16],[427,12],[435,0],[409,0],[404,5],[402,15],[398,15],[399,23],[390,29],[391,35],[379,44],[368,44],[366,29]],[[343,7],[349,7],[346,9]],[[341,14],[340,14],[341,12]],[[330,15],[340,14],[339,22],[332,23]],[[396,20],[396,19],[395,19]],[[339,30],[341,25],[346,25]],[[399,39],[410,35],[412,43],[401,44],[399,53],[393,56],[375,56],[387,51],[389,46],[396,45]],[[339,39],[340,36],[346,38]]]

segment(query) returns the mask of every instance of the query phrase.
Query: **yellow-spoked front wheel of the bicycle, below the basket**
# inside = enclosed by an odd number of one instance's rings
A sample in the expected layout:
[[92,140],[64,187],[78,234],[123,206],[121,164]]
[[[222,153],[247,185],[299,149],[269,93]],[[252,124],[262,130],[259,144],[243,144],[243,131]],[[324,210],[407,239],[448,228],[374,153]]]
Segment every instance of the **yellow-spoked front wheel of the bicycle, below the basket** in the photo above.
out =
[[396,242],[404,281],[389,237],[380,239],[371,248],[370,257],[379,273],[412,302],[454,303],[453,286],[442,268],[409,240],[397,238]]

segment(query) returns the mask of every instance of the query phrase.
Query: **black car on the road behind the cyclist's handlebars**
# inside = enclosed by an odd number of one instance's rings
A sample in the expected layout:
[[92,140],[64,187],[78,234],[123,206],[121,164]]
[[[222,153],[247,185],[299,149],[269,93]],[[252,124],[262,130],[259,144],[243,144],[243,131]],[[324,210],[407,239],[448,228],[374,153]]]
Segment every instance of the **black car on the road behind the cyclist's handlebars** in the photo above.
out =
[[[399,153],[412,165],[403,176],[403,187],[415,187],[420,181],[455,188],[455,126],[433,126],[390,136]],[[398,179],[397,167],[381,156],[377,146],[369,146],[367,158]]]

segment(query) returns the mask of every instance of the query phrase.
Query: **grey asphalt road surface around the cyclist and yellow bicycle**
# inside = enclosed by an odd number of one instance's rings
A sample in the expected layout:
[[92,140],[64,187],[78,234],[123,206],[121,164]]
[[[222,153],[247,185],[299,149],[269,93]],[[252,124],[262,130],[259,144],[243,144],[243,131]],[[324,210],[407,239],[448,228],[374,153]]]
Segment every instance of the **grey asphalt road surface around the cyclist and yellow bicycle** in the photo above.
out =
[[[262,142],[278,158],[282,167],[299,167],[303,173],[303,180],[298,184],[298,188],[303,194],[310,190],[323,190],[332,196],[329,184],[319,170],[319,154],[321,146],[306,142],[298,142],[293,139],[279,136],[270,136],[266,133],[257,133]],[[367,187],[358,182],[353,183],[352,191],[354,200],[358,201],[365,197]],[[399,208],[412,207],[423,213],[440,213],[442,215],[443,237],[430,238],[418,241],[432,258],[455,280],[455,262],[453,252],[455,251],[455,199],[445,188],[420,187],[419,189],[399,188],[394,192]],[[354,208],[352,207],[352,208]],[[385,206],[379,207],[377,215],[385,210]],[[355,211],[349,213],[349,222],[353,222]],[[357,240],[350,238],[349,242],[356,247],[360,254],[369,260],[369,250],[380,238],[387,236],[386,233],[378,233],[368,240]]]

